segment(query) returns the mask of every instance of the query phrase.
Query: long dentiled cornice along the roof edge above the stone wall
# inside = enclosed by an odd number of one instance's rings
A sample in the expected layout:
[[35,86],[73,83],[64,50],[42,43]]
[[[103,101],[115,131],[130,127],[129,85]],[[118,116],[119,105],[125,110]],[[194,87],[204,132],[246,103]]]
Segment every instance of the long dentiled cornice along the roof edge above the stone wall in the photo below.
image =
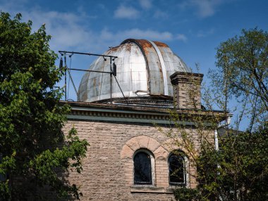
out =
[[[66,102],[63,102],[66,103]],[[174,124],[170,120],[170,109],[157,109],[149,107],[130,107],[116,106],[111,104],[85,104],[80,102],[71,102],[71,113],[67,115],[68,120],[88,120],[88,121],[114,121],[128,123],[157,123],[157,124]],[[191,121],[193,116],[201,116],[204,120],[212,116],[212,111],[193,111],[176,109],[179,117],[183,121],[176,123],[185,126],[193,126]],[[215,116],[223,116],[222,112],[214,112]]]

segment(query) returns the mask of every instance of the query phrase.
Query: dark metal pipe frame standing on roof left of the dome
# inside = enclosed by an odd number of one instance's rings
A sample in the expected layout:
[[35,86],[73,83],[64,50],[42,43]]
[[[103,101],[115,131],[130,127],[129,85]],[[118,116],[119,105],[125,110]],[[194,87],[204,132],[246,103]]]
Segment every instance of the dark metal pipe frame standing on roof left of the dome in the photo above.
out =
[[[59,51],[59,53],[61,54],[61,56],[63,56],[63,54],[64,55],[66,55],[66,54],[71,54],[71,55],[73,55],[73,54],[83,54],[83,55],[89,55],[89,56],[102,56],[104,59],[106,59],[105,57],[108,57],[110,59],[110,71],[92,71],[92,70],[84,70],[84,69],[79,69],[79,68],[67,68],[68,74],[69,74],[69,76],[71,78],[71,73],[69,71],[73,70],[73,71],[87,71],[87,72],[95,72],[95,73],[109,73],[110,75],[114,75],[116,83],[117,83],[119,89],[121,90],[121,93],[123,95],[123,98],[126,101],[126,104],[128,105],[128,101],[127,101],[125,95],[123,94],[123,91],[122,91],[122,89],[121,89],[121,87],[120,87],[120,85],[119,85],[119,83],[118,83],[118,81],[116,79],[116,64],[115,63],[111,64],[112,63],[111,61],[114,61],[114,59],[118,58],[118,56],[111,56],[111,55],[105,55],[105,54],[92,54],[92,53],[85,53],[85,52],[78,52],[78,51]],[[64,61],[65,61],[65,68],[66,68],[66,66],[67,66],[66,65],[66,56],[64,57]],[[62,59],[60,61],[60,68],[61,67],[63,67]],[[66,77],[67,77],[67,75],[65,73],[65,101],[67,99],[66,98]],[[73,78],[71,78],[71,81],[73,83]],[[110,85],[111,85],[111,83],[110,83]],[[74,83],[73,83],[73,86],[74,86]],[[76,92],[76,95],[78,96],[78,92],[77,92],[76,88],[75,88],[75,92]],[[112,88],[110,87],[110,94],[111,93],[112,93]],[[78,97],[78,99],[79,99],[79,97]],[[111,98],[111,104],[112,104],[112,98]]]

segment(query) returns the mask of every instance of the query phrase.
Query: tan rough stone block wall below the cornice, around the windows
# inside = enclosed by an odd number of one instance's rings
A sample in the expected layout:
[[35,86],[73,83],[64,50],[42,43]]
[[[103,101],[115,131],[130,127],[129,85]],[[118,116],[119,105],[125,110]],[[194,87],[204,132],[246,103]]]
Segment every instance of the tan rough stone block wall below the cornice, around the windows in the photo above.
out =
[[[173,147],[170,139],[152,124],[72,120],[63,132],[67,134],[73,126],[78,136],[90,143],[82,173],[70,170],[68,175],[70,183],[80,187],[81,200],[175,200],[169,189],[167,158],[172,149],[183,149]],[[169,125],[163,129],[168,131]],[[142,147],[154,154],[155,188],[140,190],[133,185],[132,154]],[[190,164],[188,170],[195,174]],[[188,181],[190,188],[197,185],[193,176]]]

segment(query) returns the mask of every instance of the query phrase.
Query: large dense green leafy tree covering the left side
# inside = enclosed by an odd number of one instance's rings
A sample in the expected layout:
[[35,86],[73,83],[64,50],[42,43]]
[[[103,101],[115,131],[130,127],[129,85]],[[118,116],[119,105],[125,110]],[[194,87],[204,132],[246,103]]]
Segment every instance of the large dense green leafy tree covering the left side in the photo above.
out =
[[[41,200],[80,193],[65,181],[68,169],[82,170],[88,143],[61,128],[69,107],[54,88],[63,72],[54,65],[44,25],[0,16],[0,200]],[[43,192],[43,193],[42,193]],[[44,193],[47,192],[47,193]]]

